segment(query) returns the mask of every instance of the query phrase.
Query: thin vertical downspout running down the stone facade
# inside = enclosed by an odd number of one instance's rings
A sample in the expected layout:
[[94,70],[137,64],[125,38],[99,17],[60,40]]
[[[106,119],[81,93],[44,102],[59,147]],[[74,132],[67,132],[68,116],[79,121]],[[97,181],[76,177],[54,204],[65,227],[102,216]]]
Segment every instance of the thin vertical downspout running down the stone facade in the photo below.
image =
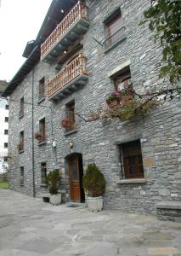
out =
[[32,189],[33,189],[33,197],[36,197],[36,189],[35,189],[35,147],[34,147],[34,67],[32,68],[32,114],[31,114],[31,123],[32,123]]

